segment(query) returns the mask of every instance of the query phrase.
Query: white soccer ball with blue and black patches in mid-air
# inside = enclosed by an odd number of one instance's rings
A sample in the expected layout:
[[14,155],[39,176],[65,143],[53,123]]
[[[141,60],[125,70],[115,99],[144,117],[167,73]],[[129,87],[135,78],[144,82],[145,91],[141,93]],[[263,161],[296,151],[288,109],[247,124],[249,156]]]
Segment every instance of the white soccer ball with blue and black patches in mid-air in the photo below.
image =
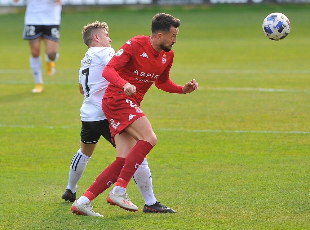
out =
[[269,14],[263,21],[263,32],[271,40],[281,40],[290,33],[290,20],[282,13]]

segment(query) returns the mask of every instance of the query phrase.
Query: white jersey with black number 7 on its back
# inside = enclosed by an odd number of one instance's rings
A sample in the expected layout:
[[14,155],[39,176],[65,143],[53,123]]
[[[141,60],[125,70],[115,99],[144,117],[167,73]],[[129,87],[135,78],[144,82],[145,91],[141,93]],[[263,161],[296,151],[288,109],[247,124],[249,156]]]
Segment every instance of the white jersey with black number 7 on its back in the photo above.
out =
[[81,107],[82,121],[94,122],[106,119],[101,103],[109,82],[102,77],[102,71],[114,54],[115,51],[111,47],[91,47],[81,60],[79,82],[84,90],[84,101]]

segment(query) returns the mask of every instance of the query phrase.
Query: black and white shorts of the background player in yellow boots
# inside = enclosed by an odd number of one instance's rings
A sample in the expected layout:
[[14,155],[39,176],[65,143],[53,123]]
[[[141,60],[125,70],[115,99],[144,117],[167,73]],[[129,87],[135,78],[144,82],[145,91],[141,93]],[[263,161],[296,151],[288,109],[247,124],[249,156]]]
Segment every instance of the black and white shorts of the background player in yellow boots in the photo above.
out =
[[30,40],[40,36],[59,42],[59,25],[25,25],[23,33],[24,39]]

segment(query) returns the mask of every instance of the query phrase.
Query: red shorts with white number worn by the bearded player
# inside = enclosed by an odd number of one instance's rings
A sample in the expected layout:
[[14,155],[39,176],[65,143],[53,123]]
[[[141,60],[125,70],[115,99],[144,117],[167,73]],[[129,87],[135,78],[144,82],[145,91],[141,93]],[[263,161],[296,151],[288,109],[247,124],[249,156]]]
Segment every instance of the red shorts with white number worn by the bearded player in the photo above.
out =
[[102,99],[102,110],[110,123],[113,143],[117,133],[121,134],[132,122],[145,116],[133,98],[128,96]]

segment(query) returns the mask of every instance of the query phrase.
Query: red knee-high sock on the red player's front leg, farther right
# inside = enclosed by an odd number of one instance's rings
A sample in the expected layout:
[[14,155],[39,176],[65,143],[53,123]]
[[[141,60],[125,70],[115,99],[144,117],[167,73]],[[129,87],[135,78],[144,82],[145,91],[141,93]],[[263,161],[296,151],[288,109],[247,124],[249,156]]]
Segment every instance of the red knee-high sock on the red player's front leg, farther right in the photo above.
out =
[[134,175],[135,171],[152,148],[153,146],[149,142],[139,140],[128,153],[124,167],[118,176],[120,180],[117,180],[115,185],[126,188],[131,177]]

